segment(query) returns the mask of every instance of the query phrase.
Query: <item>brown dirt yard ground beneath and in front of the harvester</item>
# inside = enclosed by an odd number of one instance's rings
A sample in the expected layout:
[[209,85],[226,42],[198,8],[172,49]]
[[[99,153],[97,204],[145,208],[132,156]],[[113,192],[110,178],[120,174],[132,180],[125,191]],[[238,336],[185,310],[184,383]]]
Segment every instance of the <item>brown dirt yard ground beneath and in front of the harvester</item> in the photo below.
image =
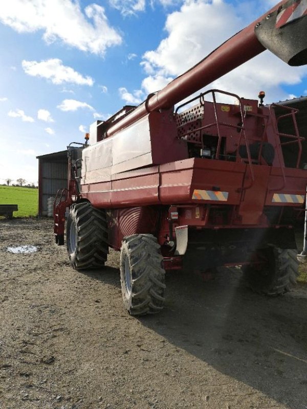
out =
[[[6,252],[24,244],[39,251]],[[265,298],[239,269],[173,272],[165,310],[135,319],[118,254],[74,271],[51,220],[1,220],[0,255],[1,409],[307,408],[307,287]]]

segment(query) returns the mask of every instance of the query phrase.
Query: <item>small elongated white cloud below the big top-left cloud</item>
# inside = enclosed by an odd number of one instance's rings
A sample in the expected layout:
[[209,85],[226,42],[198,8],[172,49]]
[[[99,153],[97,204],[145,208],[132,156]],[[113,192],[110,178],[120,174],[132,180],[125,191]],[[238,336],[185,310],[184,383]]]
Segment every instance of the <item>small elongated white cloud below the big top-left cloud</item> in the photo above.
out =
[[94,84],[93,78],[84,77],[72,67],[63,65],[58,58],[50,58],[40,62],[23,60],[22,65],[26,74],[32,77],[50,79],[53,84],[72,83],[90,86]]

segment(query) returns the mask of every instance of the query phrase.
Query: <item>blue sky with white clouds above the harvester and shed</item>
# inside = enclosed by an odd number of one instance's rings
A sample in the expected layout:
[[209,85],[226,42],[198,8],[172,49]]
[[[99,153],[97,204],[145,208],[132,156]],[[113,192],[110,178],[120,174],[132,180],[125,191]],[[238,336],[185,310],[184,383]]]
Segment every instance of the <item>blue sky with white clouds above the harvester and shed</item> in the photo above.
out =
[[[276,2],[277,3],[277,2]],[[0,182],[82,142],[275,4],[271,0],[10,0],[0,6]],[[262,53],[207,88],[266,102],[307,95],[306,67]]]

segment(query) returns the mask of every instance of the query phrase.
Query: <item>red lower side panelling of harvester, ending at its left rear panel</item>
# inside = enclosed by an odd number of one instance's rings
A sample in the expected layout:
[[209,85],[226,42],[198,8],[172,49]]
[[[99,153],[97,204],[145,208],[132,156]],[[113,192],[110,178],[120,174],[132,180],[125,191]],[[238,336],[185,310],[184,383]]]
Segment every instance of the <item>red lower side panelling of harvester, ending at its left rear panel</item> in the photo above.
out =
[[229,192],[227,204],[238,205],[246,168],[240,163],[191,158],[147,168],[146,172],[128,171],[111,182],[82,185],[81,195],[98,208],[172,205],[192,203],[194,189],[212,190],[215,186]]

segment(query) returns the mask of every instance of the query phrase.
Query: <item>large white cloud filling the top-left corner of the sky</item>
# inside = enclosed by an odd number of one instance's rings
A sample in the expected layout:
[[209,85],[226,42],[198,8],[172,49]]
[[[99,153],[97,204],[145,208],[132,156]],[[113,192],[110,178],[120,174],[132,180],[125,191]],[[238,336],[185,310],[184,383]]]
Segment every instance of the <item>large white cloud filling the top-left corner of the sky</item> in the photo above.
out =
[[93,54],[104,55],[108,47],[122,42],[98,4],[83,12],[80,2],[74,0],[10,0],[2,2],[0,21],[19,33],[43,31],[47,43],[61,40]]

